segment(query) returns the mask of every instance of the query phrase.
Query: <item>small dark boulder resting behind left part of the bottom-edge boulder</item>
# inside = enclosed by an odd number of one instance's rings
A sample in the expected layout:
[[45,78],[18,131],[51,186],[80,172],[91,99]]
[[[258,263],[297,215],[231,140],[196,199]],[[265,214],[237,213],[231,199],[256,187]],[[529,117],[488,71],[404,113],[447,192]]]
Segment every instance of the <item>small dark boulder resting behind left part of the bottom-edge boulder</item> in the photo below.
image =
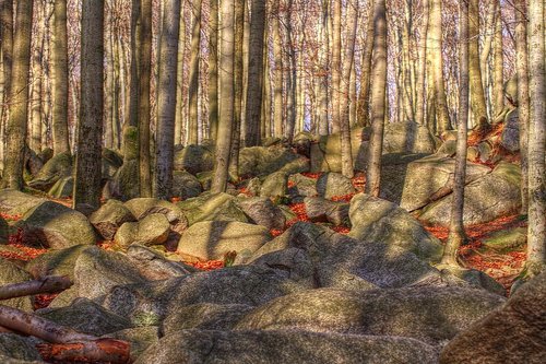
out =
[[218,305],[200,303],[180,307],[165,318],[159,328],[159,336],[165,337],[187,329],[230,330],[252,306]]

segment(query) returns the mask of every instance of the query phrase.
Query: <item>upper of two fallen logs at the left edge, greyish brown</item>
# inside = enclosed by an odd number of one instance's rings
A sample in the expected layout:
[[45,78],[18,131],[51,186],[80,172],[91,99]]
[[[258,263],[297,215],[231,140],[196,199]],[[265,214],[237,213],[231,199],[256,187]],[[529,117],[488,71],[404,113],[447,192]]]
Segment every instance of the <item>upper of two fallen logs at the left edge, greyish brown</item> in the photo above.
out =
[[68,277],[48,275],[39,280],[0,285],[0,301],[41,293],[58,293],[70,289]]

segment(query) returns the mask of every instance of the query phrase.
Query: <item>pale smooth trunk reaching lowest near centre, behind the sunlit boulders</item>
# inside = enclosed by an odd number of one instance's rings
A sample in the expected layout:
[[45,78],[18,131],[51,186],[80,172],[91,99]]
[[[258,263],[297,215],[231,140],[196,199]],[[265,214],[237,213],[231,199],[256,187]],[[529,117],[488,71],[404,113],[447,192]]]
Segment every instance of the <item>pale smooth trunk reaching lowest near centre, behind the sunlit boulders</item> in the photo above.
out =
[[219,122],[218,137],[216,138],[216,163],[211,191],[224,192],[227,187],[229,168],[232,129],[234,125],[234,47],[235,47],[235,5],[234,0],[221,0],[222,33],[221,54],[218,63],[219,77]]

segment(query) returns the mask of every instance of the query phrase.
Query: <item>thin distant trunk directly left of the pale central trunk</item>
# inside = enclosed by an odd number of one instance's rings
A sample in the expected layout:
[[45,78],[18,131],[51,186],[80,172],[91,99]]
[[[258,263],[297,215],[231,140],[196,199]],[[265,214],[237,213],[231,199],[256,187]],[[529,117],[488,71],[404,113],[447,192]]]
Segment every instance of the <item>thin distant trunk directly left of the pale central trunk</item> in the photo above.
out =
[[211,0],[209,35],[209,126],[211,139],[218,133],[218,0]]

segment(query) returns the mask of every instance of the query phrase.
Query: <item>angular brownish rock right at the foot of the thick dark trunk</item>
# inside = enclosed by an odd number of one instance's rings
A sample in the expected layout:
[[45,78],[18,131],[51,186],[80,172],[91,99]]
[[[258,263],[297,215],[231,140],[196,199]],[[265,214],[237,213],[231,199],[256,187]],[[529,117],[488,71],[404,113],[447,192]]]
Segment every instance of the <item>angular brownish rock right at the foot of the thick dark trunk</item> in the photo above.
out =
[[131,211],[123,202],[117,200],[108,200],[90,218],[90,222],[106,240],[114,239],[114,235],[123,223],[133,221],[135,219]]

